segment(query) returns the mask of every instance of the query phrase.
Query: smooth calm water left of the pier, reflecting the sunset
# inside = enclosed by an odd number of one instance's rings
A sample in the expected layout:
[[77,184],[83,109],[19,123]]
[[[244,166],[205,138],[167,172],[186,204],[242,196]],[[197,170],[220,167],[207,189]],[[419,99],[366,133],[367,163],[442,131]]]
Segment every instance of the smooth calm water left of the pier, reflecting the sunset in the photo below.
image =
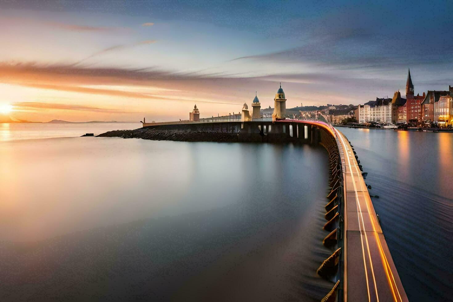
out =
[[29,139],[136,128],[59,126],[2,132],[2,301],[319,301],[332,288],[316,275],[332,253],[323,148]]

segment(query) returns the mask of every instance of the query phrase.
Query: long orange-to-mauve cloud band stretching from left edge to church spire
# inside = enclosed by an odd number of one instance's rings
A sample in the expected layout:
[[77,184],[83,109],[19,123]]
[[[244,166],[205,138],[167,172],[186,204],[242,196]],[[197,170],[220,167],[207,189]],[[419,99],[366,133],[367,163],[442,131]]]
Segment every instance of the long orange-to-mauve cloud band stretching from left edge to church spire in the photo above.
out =
[[[250,102],[258,90],[264,106],[273,104],[278,82],[291,95],[292,104],[358,104],[376,96],[382,97],[405,86],[407,70],[399,74],[363,77],[354,72],[274,73],[261,77],[231,77],[224,74],[206,75],[197,72],[172,72],[157,68],[126,69],[83,67],[74,65],[6,64],[0,63],[0,82],[43,90],[112,96],[135,100],[187,101],[241,105]],[[414,78],[417,73],[414,73]],[[419,78],[423,78],[418,74]],[[450,83],[447,83],[450,84]],[[445,84],[417,84],[417,91],[445,89]],[[148,89],[153,87],[153,89]],[[333,87],[333,88],[331,88]],[[370,93],[370,87],[373,91]],[[448,86],[447,86],[448,87]],[[420,93],[421,93],[420,92]],[[169,105],[171,106],[171,105]],[[101,106],[103,107],[103,106]],[[234,108],[234,107],[233,107]],[[235,109],[232,109],[235,111]]]

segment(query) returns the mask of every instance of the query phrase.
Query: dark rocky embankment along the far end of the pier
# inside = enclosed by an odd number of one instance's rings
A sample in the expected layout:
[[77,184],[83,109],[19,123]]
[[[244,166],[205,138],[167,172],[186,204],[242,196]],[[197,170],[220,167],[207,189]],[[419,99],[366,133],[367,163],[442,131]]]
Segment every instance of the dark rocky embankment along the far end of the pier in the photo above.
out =
[[113,130],[97,137],[120,137],[123,139],[174,140],[181,142],[237,142],[237,133],[226,132],[175,132],[164,129],[140,128],[135,130]]

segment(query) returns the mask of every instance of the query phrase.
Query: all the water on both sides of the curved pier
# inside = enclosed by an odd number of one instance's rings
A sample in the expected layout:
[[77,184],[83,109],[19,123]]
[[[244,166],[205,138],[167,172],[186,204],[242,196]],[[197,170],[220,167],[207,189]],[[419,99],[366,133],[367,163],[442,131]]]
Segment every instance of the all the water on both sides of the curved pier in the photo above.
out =
[[[0,299],[319,301],[323,148],[0,124]],[[453,134],[340,128],[410,301],[453,291]]]

